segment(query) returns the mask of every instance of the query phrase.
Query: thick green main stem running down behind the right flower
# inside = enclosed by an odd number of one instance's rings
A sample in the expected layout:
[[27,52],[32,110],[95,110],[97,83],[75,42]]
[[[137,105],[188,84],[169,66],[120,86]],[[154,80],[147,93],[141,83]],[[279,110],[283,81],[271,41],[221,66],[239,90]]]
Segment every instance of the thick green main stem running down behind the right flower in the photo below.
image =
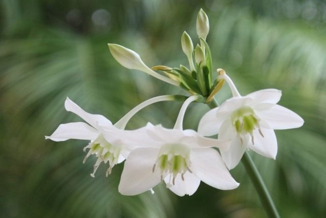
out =
[[[212,109],[215,107],[218,107],[218,103],[213,99],[208,106]],[[251,159],[250,155],[248,152],[244,152],[244,155],[242,156],[242,164],[244,165],[244,168],[246,168],[247,174],[249,175],[252,183],[255,186],[255,189],[259,195],[260,202],[263,205],[263,207],[266,210],[266,213],[268,214],[269,217],[275,217],[279,218],[280,215],[275,207],[275,204],[273,202],[273,199],[271,199],[269,192],[267,190],[267,187],[261,178],[258,169]]]

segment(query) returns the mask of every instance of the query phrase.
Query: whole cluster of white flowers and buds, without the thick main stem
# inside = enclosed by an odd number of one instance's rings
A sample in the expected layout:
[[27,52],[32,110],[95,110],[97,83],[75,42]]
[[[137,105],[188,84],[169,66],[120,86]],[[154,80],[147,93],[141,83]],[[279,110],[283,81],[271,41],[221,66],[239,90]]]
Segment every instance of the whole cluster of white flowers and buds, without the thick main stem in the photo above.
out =
[[[64,141],[83,139],[90,141],[84,148],[96,162],[92,177],[99,165],[107,164],[106,176],[124,160],[119,183],[123,195],[138,195],[152,190],[160,182],[178,196],[193,195],[200,181],[223,190],[234,189],[237,183],[229,173],[246,150],[268,158],[276,158],[275,129],[301,127],[303,119],[294,112],[277,105],[281,91],[264,89],[241,96],[223,69],[213,80],[212,58],[206,42],[209,21],[201,9],[196,30],[199,44],[194,48],[191,37],[181,36],[182,51],[189,68],[168,66],[148,67],[134,51],[118,44],[108,44],[113,57],[124,67],[136,69],[185,89],[190,96],[162,95],[149,99],[124,115],[116,124],[102,115],[90,114],[67,98],[65,108],[85,120],[61,124],[47,139]],[[214,95],[226,82],[233,98],[218,107]],[[173,129],[148,123],[145,127],[125,130],[129,119],[144,107],[160,101],[184,101]],[[183,118],[189,104],[205,103],[211,106],[200,120],[198,131],[183,130]],[[216,104],[217,106],[217,104]],[[218,138],[211,138],[218,134]]]

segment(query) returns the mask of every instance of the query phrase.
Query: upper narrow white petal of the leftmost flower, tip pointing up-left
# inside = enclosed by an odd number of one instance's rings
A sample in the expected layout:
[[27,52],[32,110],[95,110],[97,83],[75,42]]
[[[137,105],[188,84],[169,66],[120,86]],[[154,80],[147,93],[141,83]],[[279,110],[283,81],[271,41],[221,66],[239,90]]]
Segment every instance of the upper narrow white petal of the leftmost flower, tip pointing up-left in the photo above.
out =
[[78,116],[82,117],[87,123],[89,123],[91,126],[93,126],[96,129],[99,129],[98,123],[101,123],[102,126],[104,125],[112,126],[111,121],[105,118],[104,116],[99,114],[87,113],[78,105],[76,105],[73,101],[71,101],[69,98],[67,98],[65,101],[65,108],[67,111],[73,112]]

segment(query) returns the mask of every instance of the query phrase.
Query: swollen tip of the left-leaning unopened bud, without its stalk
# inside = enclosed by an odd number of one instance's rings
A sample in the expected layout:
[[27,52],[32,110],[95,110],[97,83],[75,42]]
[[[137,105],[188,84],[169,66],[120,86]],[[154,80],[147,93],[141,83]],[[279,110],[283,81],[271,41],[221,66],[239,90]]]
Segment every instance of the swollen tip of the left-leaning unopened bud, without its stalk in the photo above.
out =
[[148,71],[148,67],[144,64],[139,54],[127,49],[118,44],[108,43],[108,48],[112,56],[124,67],[128,69],[138,69],[141,71]]

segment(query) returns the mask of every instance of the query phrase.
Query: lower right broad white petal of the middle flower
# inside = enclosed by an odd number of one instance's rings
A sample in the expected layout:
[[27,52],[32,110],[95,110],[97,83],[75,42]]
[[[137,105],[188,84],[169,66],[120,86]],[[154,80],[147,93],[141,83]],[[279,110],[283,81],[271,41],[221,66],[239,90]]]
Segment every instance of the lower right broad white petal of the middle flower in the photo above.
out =
[[214,149],[192,149],[190,161],[193,173],[206,184],[222,190],[239,186],[226,168],[220,154]]

